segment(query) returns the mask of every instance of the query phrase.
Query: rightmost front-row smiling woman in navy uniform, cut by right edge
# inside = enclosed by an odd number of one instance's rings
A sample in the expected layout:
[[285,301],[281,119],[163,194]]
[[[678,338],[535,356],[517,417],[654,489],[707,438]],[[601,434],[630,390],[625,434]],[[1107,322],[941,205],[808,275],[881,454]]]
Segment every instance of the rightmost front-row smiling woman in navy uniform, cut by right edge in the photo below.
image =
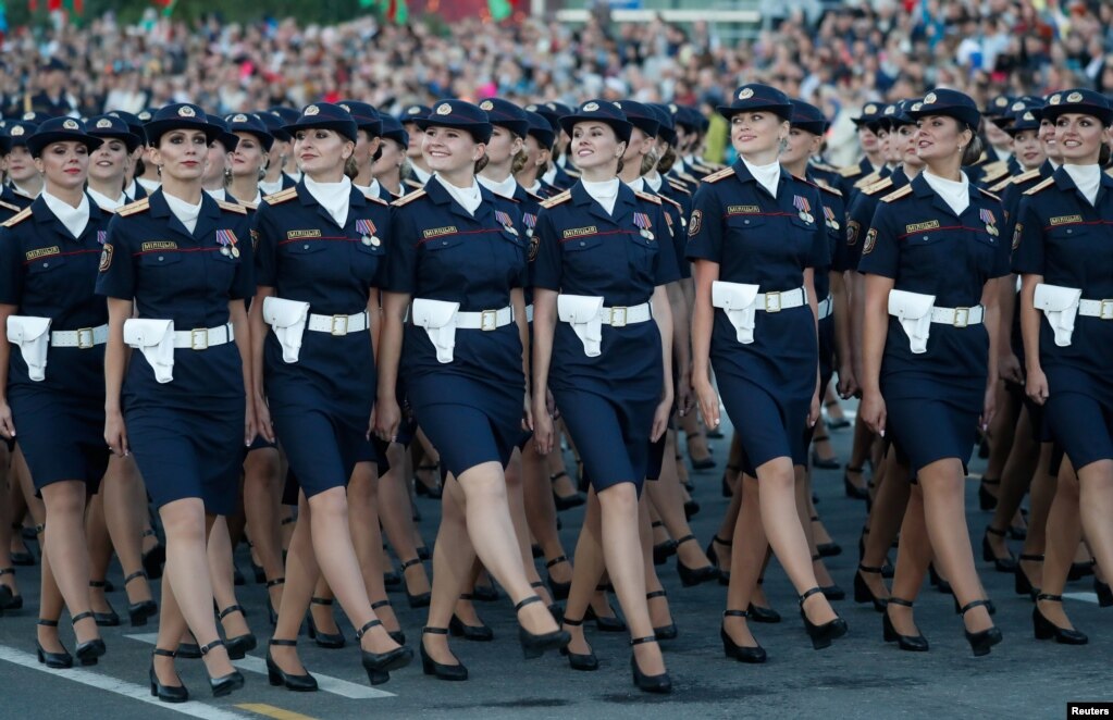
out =
[[1102,171],[1113,107],[1092,90],[1066,90],[1047,98],[1043,119],[1055,124],[1063,166],[1024,194],[1013,266],[1024,283],[1026,392],[1076,475],[1060,474],[1032,620],[1037,639],[1083,644],[1062,604],[1080,513],[1097,564],[1113,571],[1113,178]]

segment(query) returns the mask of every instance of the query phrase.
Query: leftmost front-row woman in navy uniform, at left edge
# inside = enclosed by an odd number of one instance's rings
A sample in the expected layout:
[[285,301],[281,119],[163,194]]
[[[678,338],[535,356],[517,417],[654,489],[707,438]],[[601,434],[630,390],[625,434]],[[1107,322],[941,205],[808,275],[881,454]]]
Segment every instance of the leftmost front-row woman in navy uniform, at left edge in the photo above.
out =
[[[72,118],[39,126],[27,148],[42,194],[0,230],[0,433],[16,437],[47,510],[39,662],[73,659],[57,631],[70,611],[82,665],[105,643],[89,599],[85,507],[108,466],[104,431],[104,344],[108,314],[92,293],[93,265],[109,214],[85,193],[89,157],[100,139]],[[59,595],[59,593],[61,593]],[[57,650],[56,648],[61,648]]]

